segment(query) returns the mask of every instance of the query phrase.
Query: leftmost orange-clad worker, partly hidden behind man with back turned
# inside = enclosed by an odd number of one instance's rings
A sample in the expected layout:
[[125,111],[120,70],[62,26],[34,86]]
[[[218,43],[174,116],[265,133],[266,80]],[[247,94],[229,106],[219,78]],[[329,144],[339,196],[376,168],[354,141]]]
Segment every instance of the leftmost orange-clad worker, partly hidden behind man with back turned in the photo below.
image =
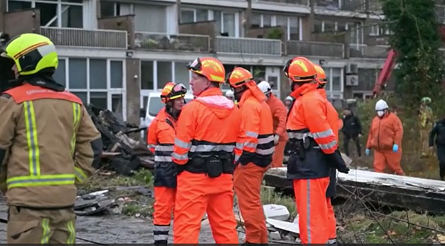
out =
[[148,143],[151,152],[155,153],[155,204],[153,213],[153,237],[155,245],[166,245],[168,230],[175,204],[176,170],[172,162],[175,128],[179,114],[186,103],[186,87],[169,82],[161,92],[161,100],[166,107],[157,113],[151,122]]

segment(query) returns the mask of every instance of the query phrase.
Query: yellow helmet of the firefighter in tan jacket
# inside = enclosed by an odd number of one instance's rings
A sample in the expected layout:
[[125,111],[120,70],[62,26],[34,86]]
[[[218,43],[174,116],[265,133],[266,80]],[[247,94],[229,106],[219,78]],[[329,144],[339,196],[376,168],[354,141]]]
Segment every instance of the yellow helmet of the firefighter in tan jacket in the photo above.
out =
[[36,74],[44,68],[55,70],[59,64],[53,42],[36,33],[23,33],[12,38],[1,56],[12,59],[20,75]]

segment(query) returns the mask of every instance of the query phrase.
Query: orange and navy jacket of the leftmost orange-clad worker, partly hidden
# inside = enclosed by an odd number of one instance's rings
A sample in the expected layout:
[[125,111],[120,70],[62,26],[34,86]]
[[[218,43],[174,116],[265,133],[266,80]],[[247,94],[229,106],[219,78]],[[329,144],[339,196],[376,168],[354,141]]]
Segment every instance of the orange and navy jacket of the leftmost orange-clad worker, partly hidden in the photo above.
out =
[[147,141],[155,154],[155,187],[176,188],[175,165],[172,162],[176,121],[161,109],[149,126]]

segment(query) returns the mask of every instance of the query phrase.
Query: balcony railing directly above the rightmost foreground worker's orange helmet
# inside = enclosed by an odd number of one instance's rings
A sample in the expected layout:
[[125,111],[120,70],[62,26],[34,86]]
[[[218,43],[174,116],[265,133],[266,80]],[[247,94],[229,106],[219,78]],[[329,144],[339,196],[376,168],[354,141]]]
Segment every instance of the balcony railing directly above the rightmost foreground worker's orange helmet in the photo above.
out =
[[344,44],[288,40],[286,51],[288,55],[343,57]]

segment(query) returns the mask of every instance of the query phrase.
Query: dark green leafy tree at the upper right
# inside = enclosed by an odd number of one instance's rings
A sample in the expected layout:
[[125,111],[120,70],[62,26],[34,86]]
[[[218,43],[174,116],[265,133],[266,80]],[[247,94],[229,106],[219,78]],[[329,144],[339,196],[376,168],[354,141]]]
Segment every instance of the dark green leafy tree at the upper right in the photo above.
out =
[[433,0],[380,0],[390,45],[397,54],[396,94],[408,107],[443,95],[444,57]]

